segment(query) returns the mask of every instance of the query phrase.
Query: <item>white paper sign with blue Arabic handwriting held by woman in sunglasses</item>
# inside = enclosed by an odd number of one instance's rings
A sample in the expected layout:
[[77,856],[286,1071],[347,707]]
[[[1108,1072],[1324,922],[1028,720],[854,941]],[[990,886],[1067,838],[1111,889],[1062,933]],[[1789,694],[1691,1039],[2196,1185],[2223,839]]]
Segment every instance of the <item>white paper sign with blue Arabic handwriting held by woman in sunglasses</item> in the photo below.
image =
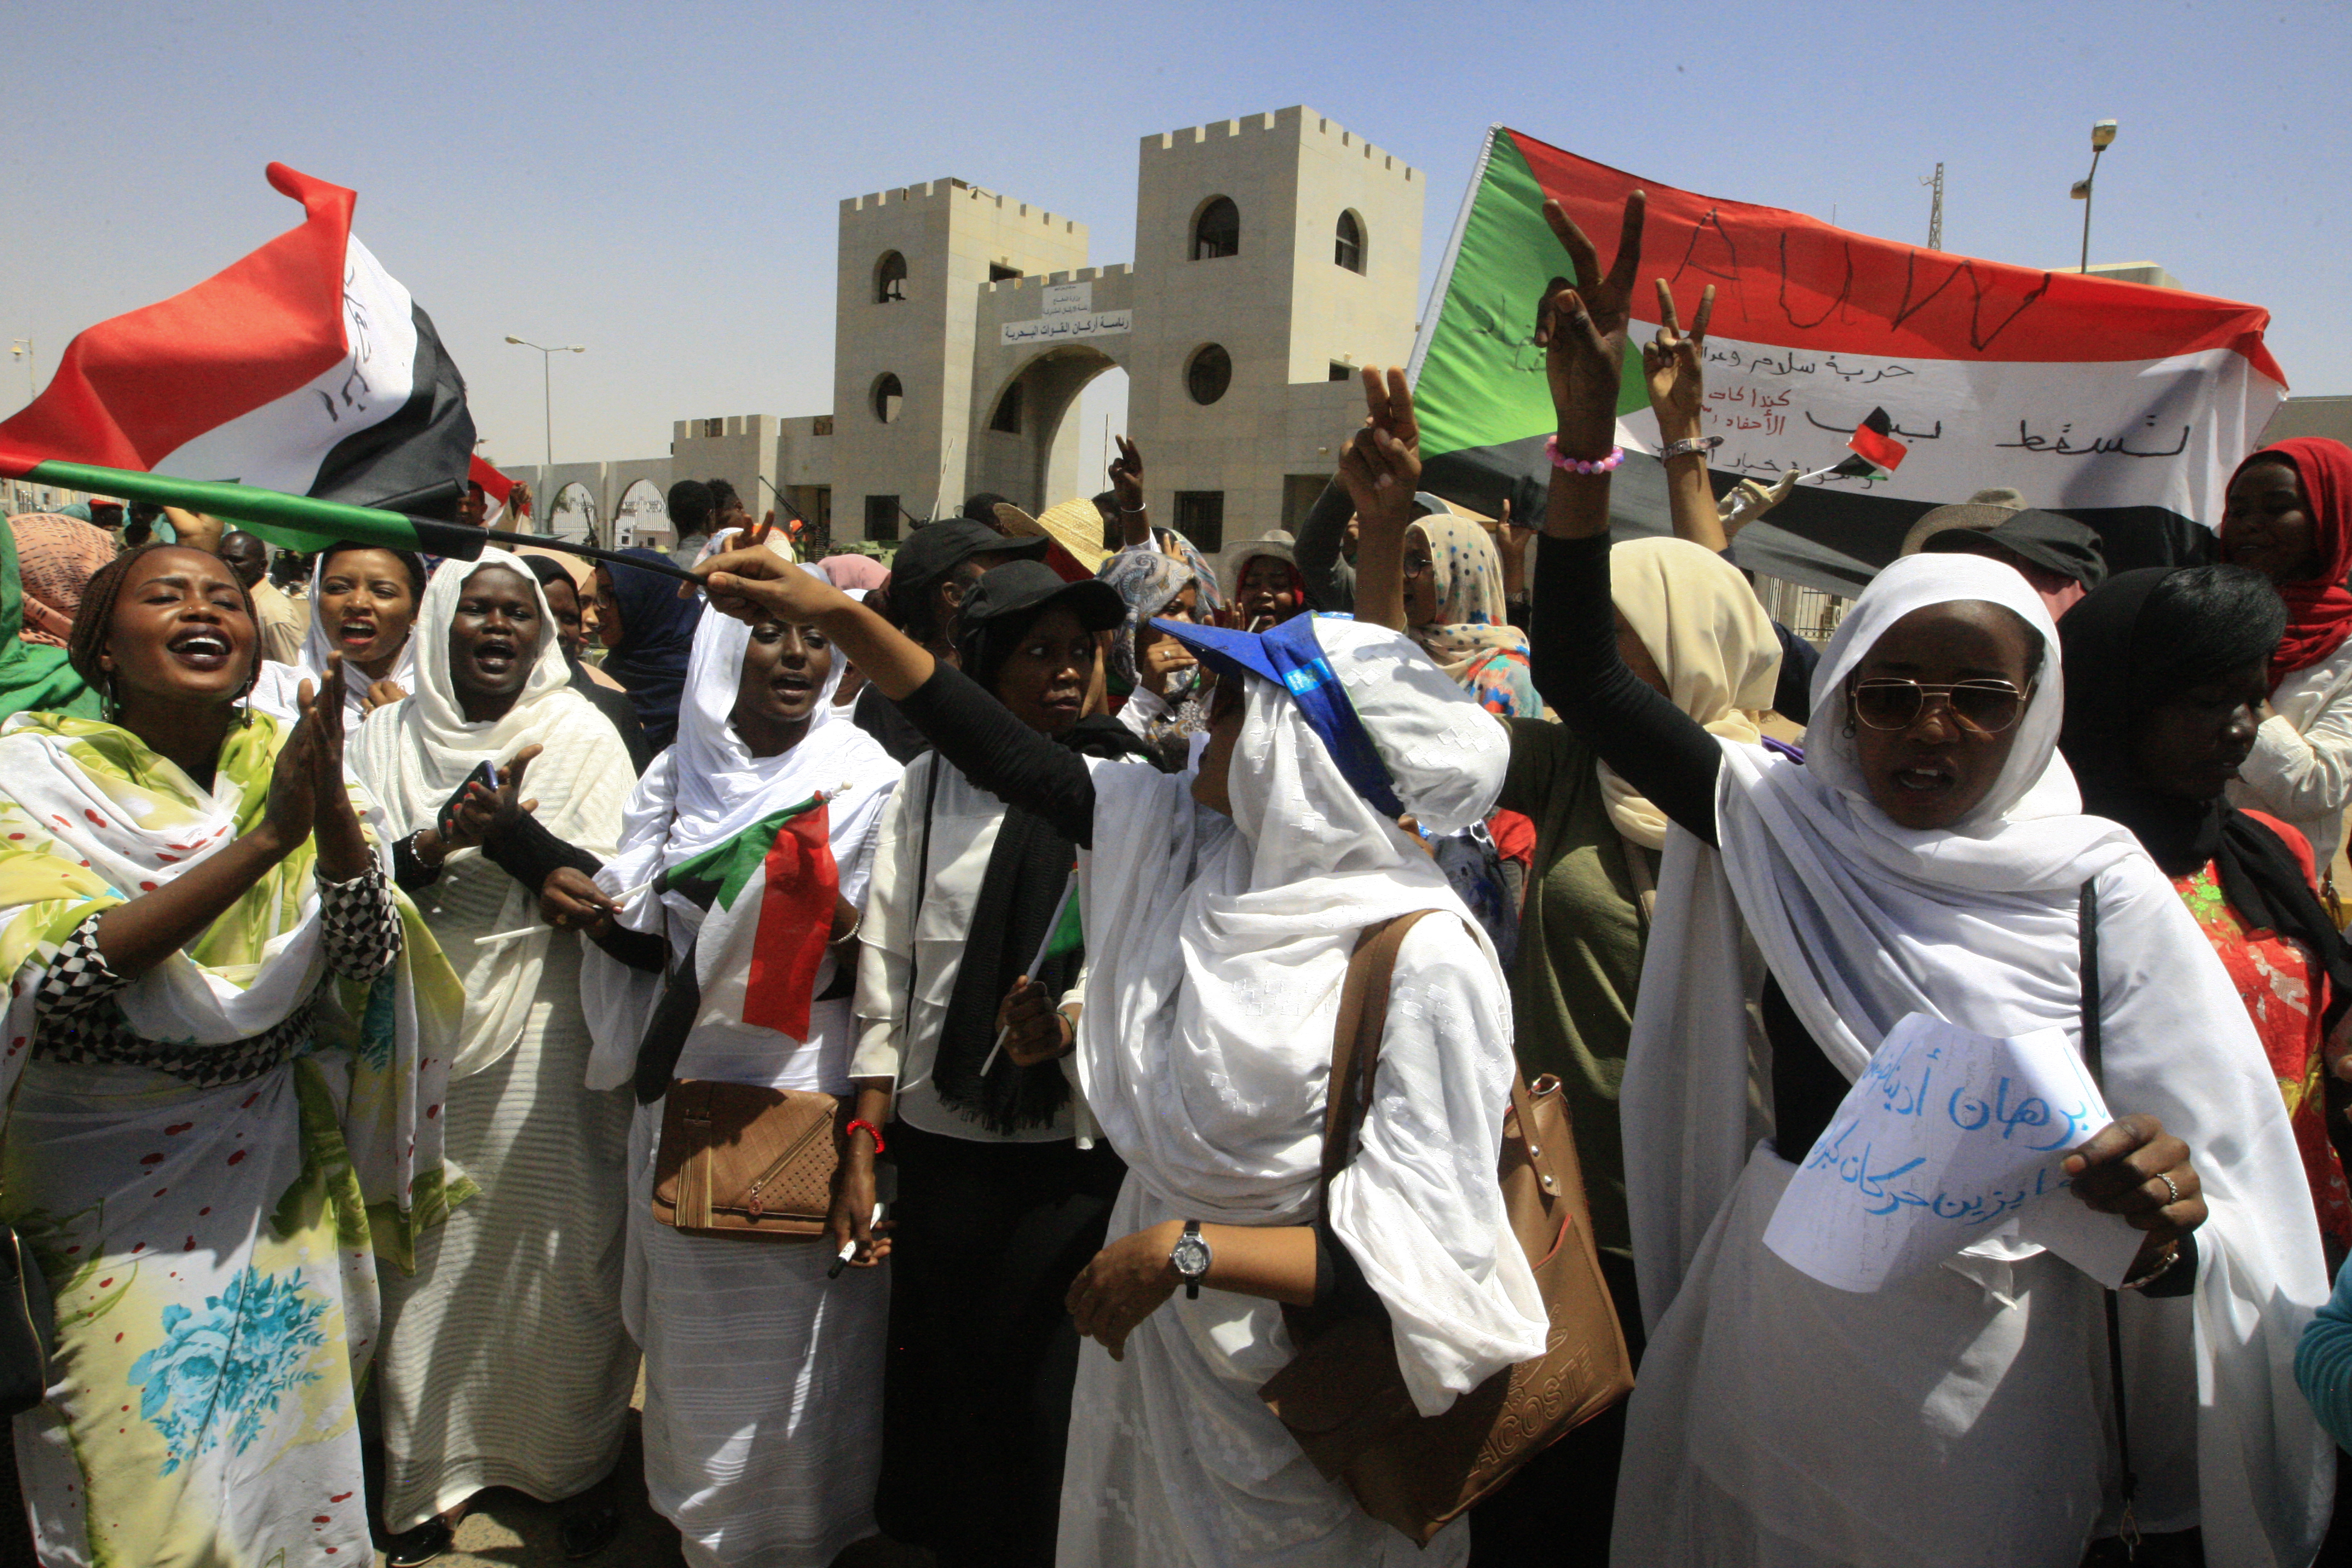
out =
[[1990,1039],[1912,1013],[1797,1166],[1764,1246],[1863,1293],[1997,1232],[2122,1276],[2136,1232],[2084,1208],[2058,1168],[2110,1121],[2065,1032]]

